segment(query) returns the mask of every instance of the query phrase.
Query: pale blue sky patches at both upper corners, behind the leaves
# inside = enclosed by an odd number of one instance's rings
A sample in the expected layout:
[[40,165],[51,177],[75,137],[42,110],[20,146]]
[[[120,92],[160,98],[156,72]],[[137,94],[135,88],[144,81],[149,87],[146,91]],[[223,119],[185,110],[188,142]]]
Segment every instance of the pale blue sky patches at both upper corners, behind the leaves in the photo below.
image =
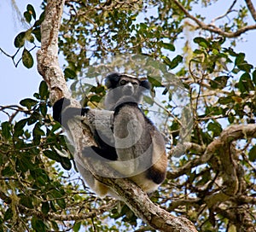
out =
[[[22,25],[17,18],[16,11],[13,9],[11,1],[12,0],[0,1],[0,48],[2,48],[9,55],[14,55],[16,51],[14,46],[15,36],[19,32],[26,30],[26,27],[24,27],[24,25]],[[229,1],[219,2],[220,3],[218,4],[222,5],[221,8],[212,4],[212,8],[210,9],[199,9],[201,10],[201,14],[207,14],[207,16],[210,18],[214,18],[219,14],[224,14],[224,12],[220,12],[219,9],[226,9],[224,4]],[[41,1],[16,0],[16,3],[21,14],[23,14],[23,12],[26,10],[27,3],[32,4],[37,15],[41,14],[42,12],[40,9]],[[255,41],[256,31],[247,32],[244,42],[239,43],[236,47],[236,52],[245,52],[247,55],[247,61],[252,63],[254,66],[256,66]],[[35,58],[36,50],[32,54]],[[13,61],[0,52],[0,106],[18,104],[21,99],[32,97],[33,93],[38,90],[38,85],[40,84],[42,78],[37,71],[36,59],[34,59],[34,61],[34,66],[31,69],[27,69],[22,65],[22,63],[20,63],[18,67],[15,67]]]

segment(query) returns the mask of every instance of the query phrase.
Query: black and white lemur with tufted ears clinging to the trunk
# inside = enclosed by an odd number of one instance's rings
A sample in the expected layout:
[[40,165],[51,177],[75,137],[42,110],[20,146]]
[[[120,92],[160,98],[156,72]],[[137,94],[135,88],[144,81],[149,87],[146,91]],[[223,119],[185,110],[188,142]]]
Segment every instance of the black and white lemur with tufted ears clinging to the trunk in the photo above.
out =
[[[106,78],[106,86],[105,108],[113,111],[113,133],[106,136],[102,131],[94,131],[98,146],[85,148],[84,152],[87,151],[90,156],[95,153],[109,160],[108,164],[123,177],[129,177],[145,192],[152,193],[166,178],[167,158],[163,137],[138,106],[143,92],[150,89],[150,84],[146,79],[112,73]],[[54,119],[58,121],[61,119],[62,103],[59,100],[53,107]],[[79,111],[83,114],[88,110]],[[101,197],[114,195],[110,188],[96,181],[83,166],[78,166],[84,180],[96,194]]]

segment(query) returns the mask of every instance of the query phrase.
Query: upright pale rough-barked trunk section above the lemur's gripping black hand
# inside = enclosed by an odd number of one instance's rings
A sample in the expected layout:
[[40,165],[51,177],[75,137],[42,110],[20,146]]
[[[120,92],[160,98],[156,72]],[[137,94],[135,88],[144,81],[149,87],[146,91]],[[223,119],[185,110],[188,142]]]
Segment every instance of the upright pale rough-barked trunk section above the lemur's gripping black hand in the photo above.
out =
[[62,96],[71,96],[58,61],[58,33],[64,2],[61,0],[47,3],[41,25],[41,49],[37,53],[38,72],[48,84],[51,102]]

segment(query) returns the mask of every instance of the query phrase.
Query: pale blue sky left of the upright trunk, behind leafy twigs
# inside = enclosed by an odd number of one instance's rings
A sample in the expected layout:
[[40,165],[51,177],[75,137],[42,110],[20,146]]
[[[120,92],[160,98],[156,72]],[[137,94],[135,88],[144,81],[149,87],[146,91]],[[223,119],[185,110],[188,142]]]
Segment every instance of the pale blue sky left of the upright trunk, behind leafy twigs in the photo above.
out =
[[[38,0],[16,1],[21,14],[26,10],[27,3],[31,3],[39,15]],[[26,3],[25,3],[26,2]],[[17,19],[15,9],[12,8],[11,0],[0,1],[0,48],[9,55],[15,54],[15,36],[25,28]],[[35,55],[35,52],[33,52]],[[14,66],[13,61],[0,52],[0,105],[18,104],[21,99],[32,97],[38,90],[42,78],[37,71],[36,62],[31,69],[27,69],[20,63]]]

